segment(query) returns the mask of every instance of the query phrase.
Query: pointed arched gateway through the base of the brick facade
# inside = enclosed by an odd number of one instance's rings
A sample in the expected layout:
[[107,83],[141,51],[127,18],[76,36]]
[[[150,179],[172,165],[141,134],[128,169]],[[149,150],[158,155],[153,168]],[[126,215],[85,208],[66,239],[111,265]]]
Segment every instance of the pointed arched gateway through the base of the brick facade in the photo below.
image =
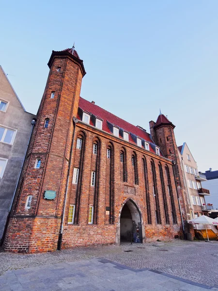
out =
[[116,242],[140,242],[145,240],[145,230],[142,215],[137,204],[127,198],[120,210],[116,231]]

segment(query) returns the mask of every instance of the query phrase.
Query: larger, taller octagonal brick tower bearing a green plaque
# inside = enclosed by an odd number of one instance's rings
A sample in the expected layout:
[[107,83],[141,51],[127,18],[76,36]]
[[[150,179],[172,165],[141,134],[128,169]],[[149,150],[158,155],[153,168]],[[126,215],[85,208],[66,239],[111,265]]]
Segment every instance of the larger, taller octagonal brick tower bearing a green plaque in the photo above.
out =
[[77,51],[52,51],[45,92],[37,113],[3,247],[5,251],[57,249],[81,81]]

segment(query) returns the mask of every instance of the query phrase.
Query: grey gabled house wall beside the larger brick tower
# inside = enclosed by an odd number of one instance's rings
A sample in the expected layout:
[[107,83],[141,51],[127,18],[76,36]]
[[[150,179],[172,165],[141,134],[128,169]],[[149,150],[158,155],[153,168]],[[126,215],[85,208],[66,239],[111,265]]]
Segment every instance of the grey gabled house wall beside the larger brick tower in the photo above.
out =
[[15,91],[0,66],[0,100],[9,102],[6,112],[0,111],[0,126],[16,129],[13,145],[0,142],[0,158],[8,159],[3,177],[0,178],[0,239],[3,234],[16,182],[31,134],[34,114],[25,112]]

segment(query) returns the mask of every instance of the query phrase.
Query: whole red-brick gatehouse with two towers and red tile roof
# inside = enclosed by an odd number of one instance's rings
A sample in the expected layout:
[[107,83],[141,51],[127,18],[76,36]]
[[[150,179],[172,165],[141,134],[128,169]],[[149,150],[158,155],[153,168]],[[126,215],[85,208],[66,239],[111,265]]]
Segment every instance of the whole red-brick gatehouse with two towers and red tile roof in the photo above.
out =
[[188,204],[174,125],[151,135],[80,97],[74,49],[52,51],[3,247],[45,252],[182,237]]

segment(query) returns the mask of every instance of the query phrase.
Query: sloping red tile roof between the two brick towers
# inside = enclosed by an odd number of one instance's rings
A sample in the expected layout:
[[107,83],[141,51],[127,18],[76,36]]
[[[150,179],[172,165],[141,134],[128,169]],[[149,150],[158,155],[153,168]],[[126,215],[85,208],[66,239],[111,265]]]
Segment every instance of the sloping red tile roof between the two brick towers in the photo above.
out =
[[[83,111],[87,111],[89,113],[92,113],[96,117],[100,117],[100,119],[103,120],[102,129],[104,131],[106,131],[106,132],[111,133],[111,131],[109,129],[109,126],[108,126],[108,123],[107,123],[107,121],[109,121],[113,125],[121,128],[121,129],[124,129],[125,131],[131,132],[134,135],[139,136],[140,138],[144,139],[145,141],[154,144],[149,133],[145,132],[142,129],[139,129],[138,127],[136,127],[136,126],[128,123],[127,121],[117,117],[116,115],[114,115],[112,113],[109,113],[105,109],[103,109],[103,108],[101,108],[101,107],[99,107],[99,106],[97,106],[97,105],[95,105],[95,104],[83,99],[82,97],[80,97],[80,99],[79,99],[79,107]],[[81,120],[79,115],[78,115],[78,119]],[[93,122],[92,122],[91,119],[90,119],[90,124],[93,125]],[[133,143],[133,144],[136,144],[133,141],[133,139],[132,139],[130,134],[129,134],[129,142]],[[155,150],[151,146],[150,146],[150,151],[151,152],[155,152]]]

